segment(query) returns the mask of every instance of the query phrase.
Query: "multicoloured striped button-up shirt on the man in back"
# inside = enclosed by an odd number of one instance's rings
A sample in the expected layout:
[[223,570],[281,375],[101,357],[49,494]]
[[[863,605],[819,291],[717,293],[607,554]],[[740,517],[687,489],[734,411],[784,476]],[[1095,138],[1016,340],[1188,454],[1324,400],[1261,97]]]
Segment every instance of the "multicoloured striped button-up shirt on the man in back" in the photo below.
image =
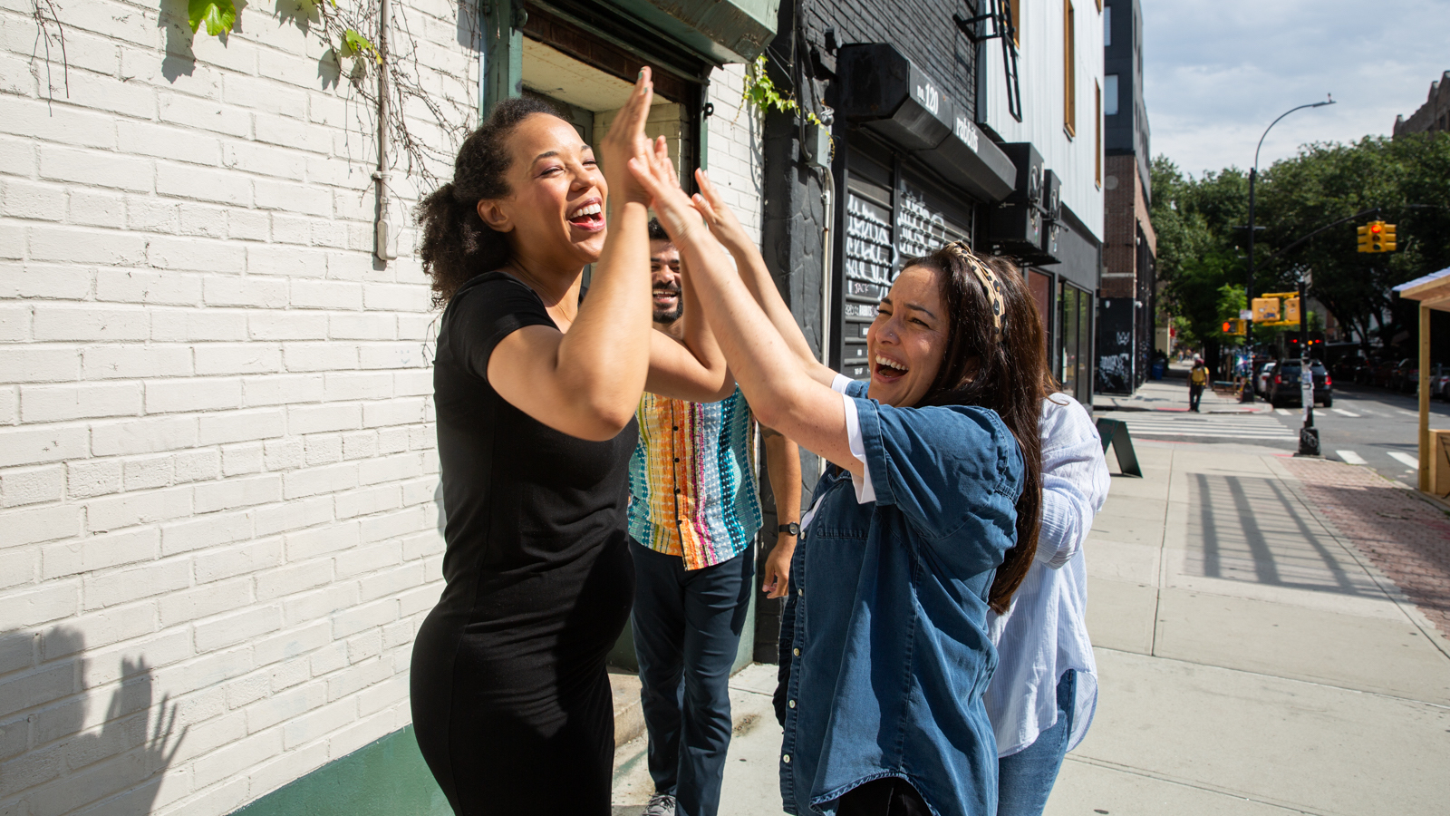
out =
[[629,534],[713,566],[745,552],[760,530],[754,423],[745,395],[684,402],[645,393],[629,457]]

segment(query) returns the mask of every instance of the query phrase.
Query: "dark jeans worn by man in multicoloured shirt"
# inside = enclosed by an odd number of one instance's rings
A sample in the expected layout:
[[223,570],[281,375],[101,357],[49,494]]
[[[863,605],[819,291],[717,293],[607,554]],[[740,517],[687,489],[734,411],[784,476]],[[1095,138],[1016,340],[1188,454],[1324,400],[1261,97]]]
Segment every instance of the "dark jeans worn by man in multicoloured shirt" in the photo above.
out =
[[686,571],[684,559],[629,542],[639,698],[650,777],[680,816],[715,816],[729,746],[729,669],[755,575],[751,550]]

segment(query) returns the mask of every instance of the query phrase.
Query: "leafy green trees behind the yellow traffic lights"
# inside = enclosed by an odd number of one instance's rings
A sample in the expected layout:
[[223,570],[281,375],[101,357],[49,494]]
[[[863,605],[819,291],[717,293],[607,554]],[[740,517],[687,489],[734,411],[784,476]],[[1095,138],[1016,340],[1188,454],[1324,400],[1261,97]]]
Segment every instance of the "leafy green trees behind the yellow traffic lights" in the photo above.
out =
[[[1248,179],[1238,168],[1183,174],[1169,158],[1153,161],[1153,227],[1157,266],[1169,314],[1186,322],[1188,338],[1212,359],[1224,319],[1237,317],[1225,286],[1247,280]],[[1450,267],[1450,134],[1389,139],[1366,136],[1353,144],[1305,145],[1259,179],[1256,287],[1292,290],[1309,274],[1309,295],[1366,343],[1389,343],[1393,325],[1391,287]],[[1395,253],[1356,250],[1356,222],[1330,229],[1276,257],[1282,247],[1341,218],[1380,208],[1396,225]],[[1322,325],[1322,315],[1311,319]],[[1260,341],[1277,331],[1256,327]]]

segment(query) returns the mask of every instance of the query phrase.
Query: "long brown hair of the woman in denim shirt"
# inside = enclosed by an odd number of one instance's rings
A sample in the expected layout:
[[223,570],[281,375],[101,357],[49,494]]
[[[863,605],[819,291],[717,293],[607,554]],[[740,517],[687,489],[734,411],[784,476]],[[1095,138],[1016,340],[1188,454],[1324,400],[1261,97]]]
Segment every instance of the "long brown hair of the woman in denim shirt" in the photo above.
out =
[[[999,283],[1000,321],[995,319],[987,285],[972,270],[973,258]],[[1051,388],[1043,321],[1022,272],[1008,258],[979,256],[961,244],[948,244],[929,256],[908,260],[906,266],[937,272],[941,301],[947,306],[948,335],[941,370],[919,405],[990,408],[1002,417],[1022,450],[1027,472],[1022,495],[1016,499],[1016,544],[1003,556],[987,595],[987,604],[1000,614],[1012,604],[1012,594],[1032,566],[1043,524],[1043,441],[1037,424]]]

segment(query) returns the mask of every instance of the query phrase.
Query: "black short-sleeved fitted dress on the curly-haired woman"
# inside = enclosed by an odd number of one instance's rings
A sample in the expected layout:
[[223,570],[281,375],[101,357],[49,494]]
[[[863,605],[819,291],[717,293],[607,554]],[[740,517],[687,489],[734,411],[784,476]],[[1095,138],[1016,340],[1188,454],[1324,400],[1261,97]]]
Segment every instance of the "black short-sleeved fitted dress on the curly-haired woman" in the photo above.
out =
[[492,272],[452,296],[438,330],[447,587],[413,645],[413,726],[460,815],[606,816],[605,655],[634,597],[637,428],[586,441],[500,398],[489,356],[526,325],[554,322],[532,289]]

